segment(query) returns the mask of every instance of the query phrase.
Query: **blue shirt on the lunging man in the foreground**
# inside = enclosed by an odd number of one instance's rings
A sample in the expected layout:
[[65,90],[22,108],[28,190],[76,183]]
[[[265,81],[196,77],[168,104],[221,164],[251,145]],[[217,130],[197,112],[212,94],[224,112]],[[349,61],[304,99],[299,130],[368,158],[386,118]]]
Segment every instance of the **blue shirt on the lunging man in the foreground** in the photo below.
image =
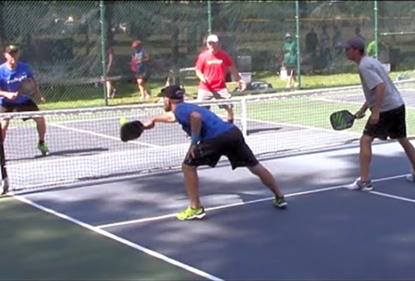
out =
[[202,126],[200,128],[200,141],[216,138],[226,131],[235,128],[234,124],[224,122],[215,113],[205,107],[200,107],[191,103],[179,103],[174,110],[174,116],[181,125],[183,131],[191,135],[190,115],[191,112],[198,112],[202,117]]

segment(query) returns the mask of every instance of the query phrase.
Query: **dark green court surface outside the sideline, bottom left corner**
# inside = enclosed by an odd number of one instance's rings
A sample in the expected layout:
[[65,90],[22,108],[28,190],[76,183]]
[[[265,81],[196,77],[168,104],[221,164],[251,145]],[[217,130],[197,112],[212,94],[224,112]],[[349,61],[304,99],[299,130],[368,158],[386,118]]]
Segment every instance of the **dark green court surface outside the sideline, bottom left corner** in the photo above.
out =
[[202,280],[11,197],[0,210],[0,280]]

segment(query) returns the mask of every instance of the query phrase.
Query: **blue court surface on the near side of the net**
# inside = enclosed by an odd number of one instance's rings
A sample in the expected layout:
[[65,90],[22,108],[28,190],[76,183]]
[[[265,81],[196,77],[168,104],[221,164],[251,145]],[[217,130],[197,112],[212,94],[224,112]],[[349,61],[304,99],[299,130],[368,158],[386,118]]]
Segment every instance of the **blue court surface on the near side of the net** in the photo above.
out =
[[174,217],[189,204],[178,172],[107,179],[16,195],[18,200],[208,280],[414,280],[415,183],[397,143],[373,145],[372,192],[355,145],[264,159],[289,206],[247,169],[199,169],[207,216]]

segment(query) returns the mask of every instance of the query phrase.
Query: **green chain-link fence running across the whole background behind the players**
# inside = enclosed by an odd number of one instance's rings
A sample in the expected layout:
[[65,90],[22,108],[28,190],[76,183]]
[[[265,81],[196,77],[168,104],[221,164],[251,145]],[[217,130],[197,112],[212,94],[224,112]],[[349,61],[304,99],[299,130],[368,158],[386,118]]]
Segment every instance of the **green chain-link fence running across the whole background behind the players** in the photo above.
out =
[[[299,86],[304,75],[355,73],[338,46],[354,35],[391,71],[412,72],[414,13],[408,1],[0,1],[0,40],[20,46],[48,100],[42,108],[91,107],[156,102],[167,81],[196,93],[193,66],[210,32],[247,79],[273,92],[286,86],[284,68]],[[132,71],[135,40],[150,56],[148,100]]]

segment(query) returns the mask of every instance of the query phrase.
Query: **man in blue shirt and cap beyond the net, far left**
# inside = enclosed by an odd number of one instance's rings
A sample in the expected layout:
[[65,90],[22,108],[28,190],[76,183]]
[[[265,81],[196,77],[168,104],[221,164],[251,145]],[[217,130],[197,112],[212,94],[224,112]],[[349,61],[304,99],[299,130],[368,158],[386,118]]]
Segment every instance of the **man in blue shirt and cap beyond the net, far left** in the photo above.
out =
[[[32,79],[34,84],[36,84],[30,67],[19,61],[20,54],[18,47],[13,45],[6,46],[3,55],[6,62],[0,65],[0,112],[39,111],[39,107],[37,107],[37,104],[34,103],[32,98],[18,93],[21,81]],[[44,103],[44,96],[39,89],[36,89],[34,94]],[[25,121],[27,119],[23,120]],[[37,124],[37,133],[39,135],[37,148],[41,151],[42,155],[48,155],[49,149],[45,143],[46,122],[44,117],[33,117],[33,120]],[[1,120],[3,141],[6,138],[9,121],[9,119]]]

